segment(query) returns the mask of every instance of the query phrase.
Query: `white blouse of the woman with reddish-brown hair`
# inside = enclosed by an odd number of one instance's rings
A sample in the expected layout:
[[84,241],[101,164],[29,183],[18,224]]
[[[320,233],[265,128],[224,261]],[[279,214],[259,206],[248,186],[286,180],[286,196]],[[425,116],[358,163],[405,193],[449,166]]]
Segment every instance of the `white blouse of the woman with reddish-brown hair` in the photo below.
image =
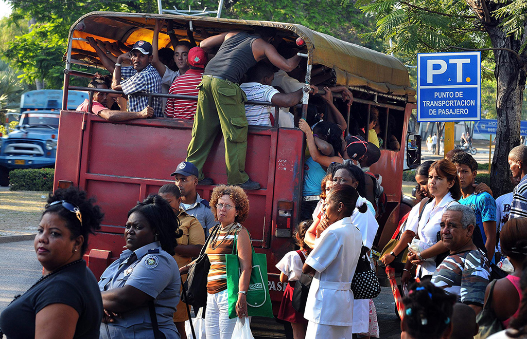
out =
[[[459,202],[452,198],[452,194],[448,192],[446,193],[446,196],[441,199],[441,202],[437,204],[437,206],[434,206],[435,198],[426,204],[425,208],[423,209],[423,215],[421,216],[421,220],[419,220],[419,225],[417,227],[417,235],[419,240],[427,243],[430,246],[437,242],[437,232],[441,231],[440,223],[443,213],[449,204],[454,203]],[[434,274],[435,269],[436,266],[434,256],[425,260],[423,264],[419,265],[417,269],[418,276],[422,277],[425,275],[432,275]]]

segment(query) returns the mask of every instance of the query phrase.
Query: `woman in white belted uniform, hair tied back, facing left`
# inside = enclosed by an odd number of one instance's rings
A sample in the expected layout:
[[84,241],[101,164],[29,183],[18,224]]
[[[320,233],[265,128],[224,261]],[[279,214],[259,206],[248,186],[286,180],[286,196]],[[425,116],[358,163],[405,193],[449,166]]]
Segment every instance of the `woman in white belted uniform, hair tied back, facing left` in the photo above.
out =
[[323,219],[329,227],[317,229],[315,248],[302,268],[304,274],[314,276],[304,313],[309,321],[306,338],[352,338],[351,282],[362,237],[350,217],[357,213],[356,208],[359,213],[366,212],[366,199],[359,197],[352,186],[340,185],[329,192],[326,200]]

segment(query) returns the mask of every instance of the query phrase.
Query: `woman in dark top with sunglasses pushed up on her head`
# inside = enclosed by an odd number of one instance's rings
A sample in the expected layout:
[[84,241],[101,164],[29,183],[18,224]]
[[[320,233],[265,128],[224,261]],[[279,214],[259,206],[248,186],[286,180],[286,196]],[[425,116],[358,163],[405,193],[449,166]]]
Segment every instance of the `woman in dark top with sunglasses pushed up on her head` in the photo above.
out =
[[99,337],[101,293],[82,259],[103,218],[94,201],[76,188],[50,193],[34,241],[44,275],[2,312],[8,338]]

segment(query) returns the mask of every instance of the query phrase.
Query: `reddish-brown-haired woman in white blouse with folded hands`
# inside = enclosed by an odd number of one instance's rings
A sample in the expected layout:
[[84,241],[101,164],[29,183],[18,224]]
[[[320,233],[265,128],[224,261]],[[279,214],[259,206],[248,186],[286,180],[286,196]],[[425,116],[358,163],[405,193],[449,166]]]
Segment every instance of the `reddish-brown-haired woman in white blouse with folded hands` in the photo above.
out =
[[[448,252],[440,240],[440,223],[446,208],[461,198],[460,180],[457,169],[450,160],[437,160],[428,170],[428,192],[434,199],[423,209],[417,225],[418,250],[408,249],[408,261],[418,265],[419,279],[430,279],[436,269],[436,256]],[[415,240],[414,240],[415,241]],[[415,247],[414,247],[415,248]]]

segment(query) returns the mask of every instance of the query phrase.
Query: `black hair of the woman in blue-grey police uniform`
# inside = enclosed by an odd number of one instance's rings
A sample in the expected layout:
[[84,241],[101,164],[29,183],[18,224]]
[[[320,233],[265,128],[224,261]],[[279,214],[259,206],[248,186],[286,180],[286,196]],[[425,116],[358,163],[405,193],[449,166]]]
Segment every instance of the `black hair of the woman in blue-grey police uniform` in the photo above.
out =
[[178,245],[177,240],[183,235],[179,229],[179,219],[170,207],[167,200],[161,198],[158,194],[150,194],[147,199],[128,211],[128,217],[132,213],[141,213],[150,223],[152,230],[159,235],[159,242],[163,251],[174,255],[174,248]]

